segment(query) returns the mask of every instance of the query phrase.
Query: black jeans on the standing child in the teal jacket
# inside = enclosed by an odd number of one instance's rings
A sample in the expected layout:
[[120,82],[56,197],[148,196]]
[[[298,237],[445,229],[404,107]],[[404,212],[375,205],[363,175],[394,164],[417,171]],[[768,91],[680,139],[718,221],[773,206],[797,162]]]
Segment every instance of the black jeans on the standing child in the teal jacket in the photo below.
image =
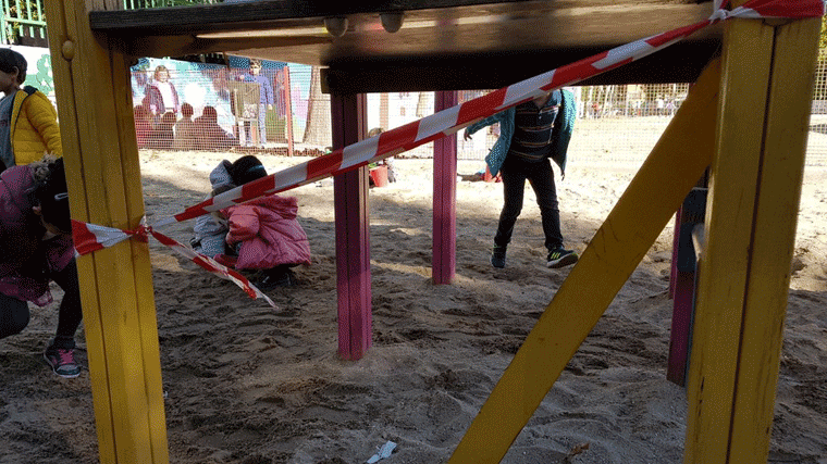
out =
[[548,160],[527,163],[515,156],[506,156],[499,172],[503,175],[503,212],[494,236],[494,244],[506,247],[511,241],[514,225],[522,211],[526,193],[526,179],[536,195],[540,216],[543,221],[545,248],[555,250],[563,247],[560,231],[560,212],[557,206],[557,189],[554,185],[554,171]]

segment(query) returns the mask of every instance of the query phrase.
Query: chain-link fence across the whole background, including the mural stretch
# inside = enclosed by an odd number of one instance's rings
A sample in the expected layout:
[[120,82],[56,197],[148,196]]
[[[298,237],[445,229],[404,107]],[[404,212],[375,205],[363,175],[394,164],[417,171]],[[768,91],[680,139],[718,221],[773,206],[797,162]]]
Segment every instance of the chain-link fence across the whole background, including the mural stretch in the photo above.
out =
[[[178,95],[178,106],[164,116],[151,102],[157,63],[133,67],[133,101],[140,148],[181,150],[233,150],[254,147],[276,154],[320,155],[332,145],[330,96],[321,91],[318,67],[263,62],[260,75],[272,87],[272,104],[261,97],[260,85],[249,79],[249,61],[231,57],[229,64],[186,63],[166,60],[169,81]],[[820,59],[813,93],[807,165],[827,165],[827,60]],[[640,164],[680,108],[689,84],[612,85],[572,87],[577,121],[569,158],[577,162]],[[459,102],[484,95],[466,90]],[[388,130],[433,114],[434,92],[369,93],[368,129]],[[187,103],[193,114],[182,112]],[[263,116],[260,117],[260,113]],[[190,120],[195,134],[177,130]],[[186,126],[187,123],[184,123]],[[260,127],[263,127],[261,131]],[[498,127],[480,130],[470,140],[457,137],[462,160],[483,160],[498,137]],[[187,139],[190,138],[190,139]],[[399,158],[428,158],[428,143]]]

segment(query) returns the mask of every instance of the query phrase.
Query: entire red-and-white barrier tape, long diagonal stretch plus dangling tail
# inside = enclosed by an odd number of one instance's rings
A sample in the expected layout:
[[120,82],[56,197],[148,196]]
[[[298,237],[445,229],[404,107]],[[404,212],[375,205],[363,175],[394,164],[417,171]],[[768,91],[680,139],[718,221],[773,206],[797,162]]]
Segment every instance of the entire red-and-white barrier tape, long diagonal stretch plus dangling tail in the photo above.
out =
[[[721,3],[719,0],[716,0],[714,4],[719,5]],[[723,4],[726,4],[726,2]],[[174,216],[159,221],[153,227],[160,228],[176,222],[192,220],[193,217],[219,211],[234,204],[244,203],[245,201],[266,195],[289,190],[325,177],[346,173],[388,156],[394,156],[404,151],[455,134],[474,122],[529,101],[550,90],[577,84],[589,77],[640,60],[688,37],[701,28],[731,17],[798,20],[819,17],[824,13],[825,0],[751,0],[731,11],[715,9],[707,21],[614,48],[440,111],[428,117],[382,133],[379,136],[349,145],[324,156],[236,187],[207,201],[189,206]],[[111,247],[129,237],[140,237],[146,240],[147,235],[151,234],[162,243],[196,262],[207,271],[234,281],[245,289],[250,297],[263,297],[273,305],[273,302],[266,294],[250,285],[240,274],[227,269],[214,260],[198,254],[166,236],[156,233],[150,227],[141,226],[138,230],[129,231],[73,221],[73,233],[75,250],[79,255]]]

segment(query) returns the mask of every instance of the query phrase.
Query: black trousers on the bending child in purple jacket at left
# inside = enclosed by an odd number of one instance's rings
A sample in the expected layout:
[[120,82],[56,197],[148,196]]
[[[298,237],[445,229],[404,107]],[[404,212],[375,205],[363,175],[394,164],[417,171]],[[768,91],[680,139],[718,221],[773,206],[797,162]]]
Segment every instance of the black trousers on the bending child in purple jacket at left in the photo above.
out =
[[[63,300],[58,313],[58,330],[52,348],[75,348],[75,333],[81,326],[81,289],[77,283],[77,265],[72,260],[66,267],[50,275],[63,289]],[[20,334],[28,325],[28,303],[0,293],[0,339]]]

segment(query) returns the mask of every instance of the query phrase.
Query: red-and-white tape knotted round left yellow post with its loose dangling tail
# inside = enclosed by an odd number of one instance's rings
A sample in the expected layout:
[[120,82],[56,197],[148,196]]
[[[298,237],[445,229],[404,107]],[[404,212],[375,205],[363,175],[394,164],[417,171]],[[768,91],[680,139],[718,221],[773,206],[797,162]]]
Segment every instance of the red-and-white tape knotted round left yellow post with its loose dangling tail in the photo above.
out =
[[75,250],[77,254],[91,253],[92,251],[111,247],[131,237],[134,237],[141,241],[147,241],[149,235],[155,237],[158,241],[160,241],[164,246],[172,249],[174,252],[198,264],[199,266],[209,271],[210,273],[237,285],[247,294],[249,294],[250,298],[252,299],[263,298],[264,301],[268,302],[268,304],[277,309],[277,306],[275,305],[273,300],[270,299],[270,297],[268,297],[261,290],[256,288],[256,286],[250,284],[250,281],[246,277],[244,277],[236,271],[227,268],[226,266],[218,263],[212,258],[206,256],[200,253],[196,253],[192,248],[186,247],[161,233],[152,230],[151,227],[148,227],[141,224],[140,227],[138,227],[135,230],[121,230],[113,227],[103,227],[103,226],[82,223],[74,220],[72,221],[72,238],[74,239]]

